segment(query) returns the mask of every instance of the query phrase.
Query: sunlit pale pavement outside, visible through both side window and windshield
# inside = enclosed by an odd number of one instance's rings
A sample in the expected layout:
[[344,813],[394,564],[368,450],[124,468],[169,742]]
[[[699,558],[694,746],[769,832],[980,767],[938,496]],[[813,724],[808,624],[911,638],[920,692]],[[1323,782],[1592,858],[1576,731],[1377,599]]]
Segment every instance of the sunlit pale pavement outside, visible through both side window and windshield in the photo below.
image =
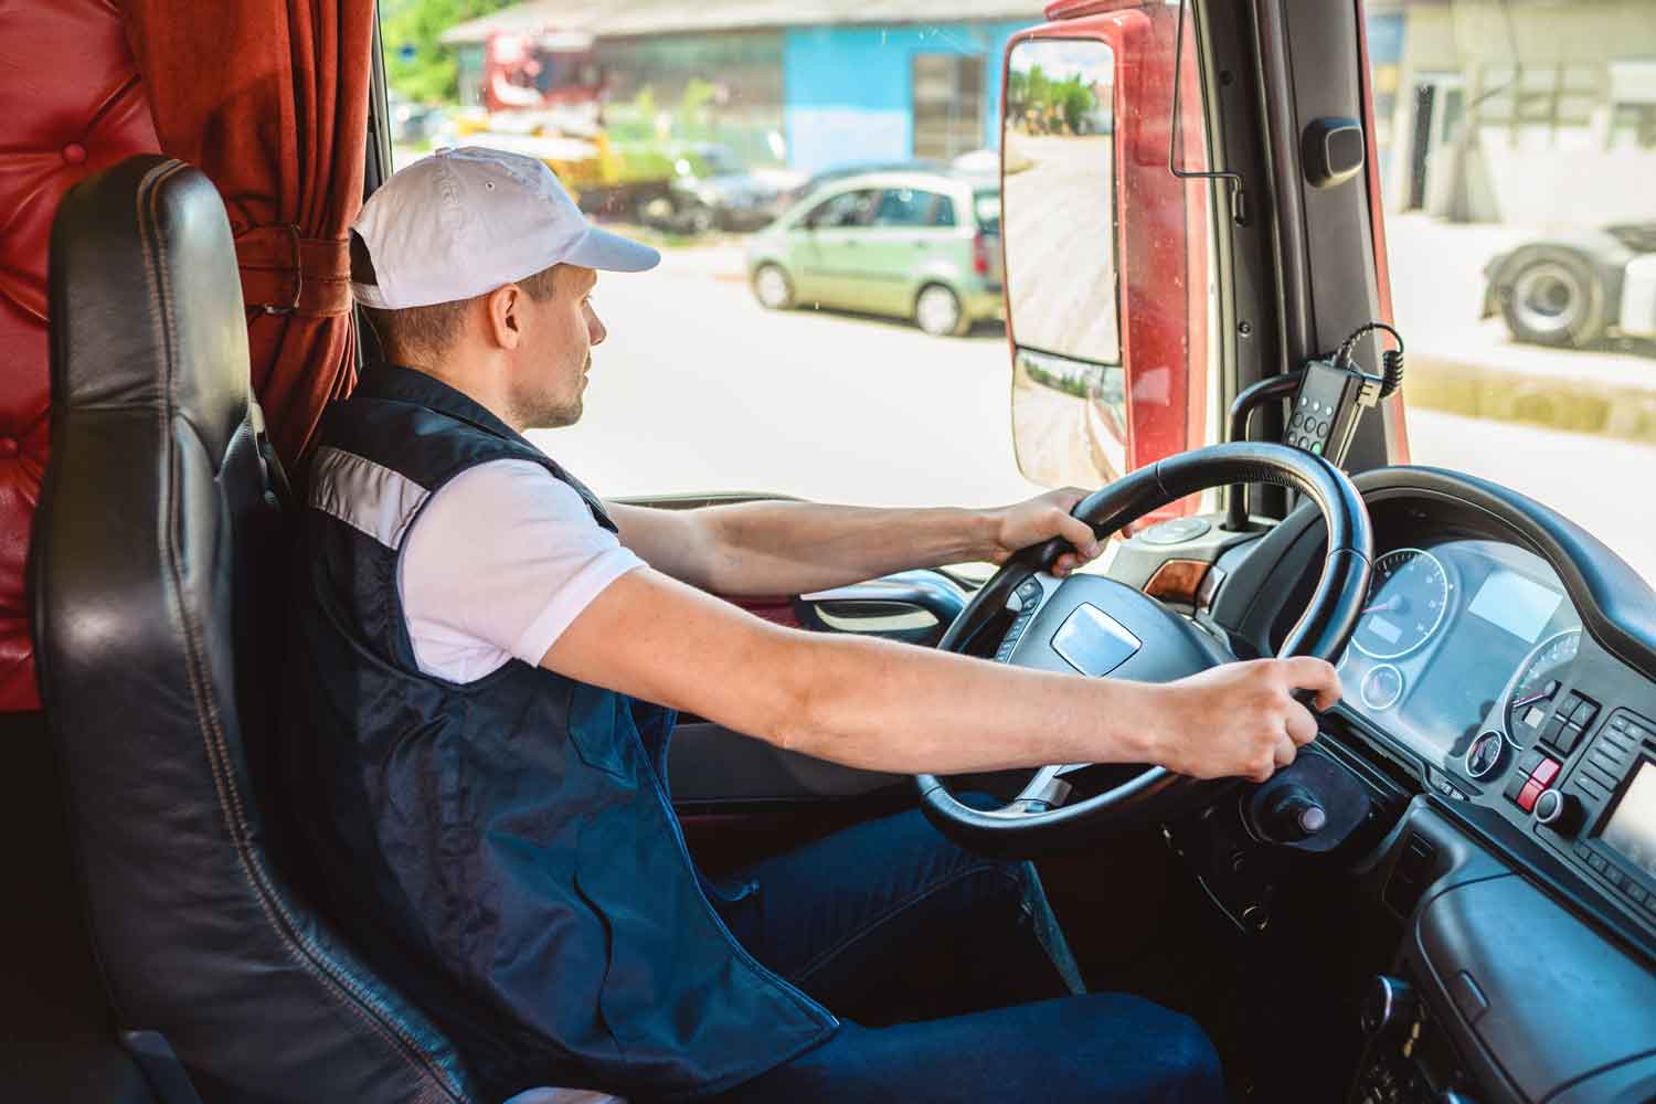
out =
[[[737,265],[729,248],[682,250],[654,273],[606,275],[593,301],[611,336],[586,417],[535,434],[542,447],[613,497],[984,506],[1040,490],[1015,465],[997,328],[927,338],[901,321],[770,313]],[[1515,487],[1656,581],[1656,445],[1426,409],[1411,409],[1409,439],[1418,463]]]

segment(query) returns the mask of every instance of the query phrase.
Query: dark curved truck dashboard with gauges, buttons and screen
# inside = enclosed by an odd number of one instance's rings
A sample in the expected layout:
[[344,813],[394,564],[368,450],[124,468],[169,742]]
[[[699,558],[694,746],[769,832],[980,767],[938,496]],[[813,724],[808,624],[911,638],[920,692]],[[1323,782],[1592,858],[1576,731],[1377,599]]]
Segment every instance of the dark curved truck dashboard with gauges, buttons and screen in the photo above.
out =
[[[1404,938],[1350,1099],[1656,1099],[1656,593],[1497,485],[1355,482],[1373,576],[1313,750],[1386,809],[1350,869]],[[1216,559],[1197,621],[1275,654],[1321,558],[1300,508]]]

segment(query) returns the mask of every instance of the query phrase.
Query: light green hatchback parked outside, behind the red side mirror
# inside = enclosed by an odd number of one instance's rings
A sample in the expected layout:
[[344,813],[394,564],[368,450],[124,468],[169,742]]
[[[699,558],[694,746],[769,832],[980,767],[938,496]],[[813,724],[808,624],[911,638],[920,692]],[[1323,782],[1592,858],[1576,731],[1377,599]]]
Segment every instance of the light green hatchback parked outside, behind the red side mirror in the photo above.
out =
[[747,248],[763,306],[912,318],[964,334],[1000,318],[1000,185],[946,172],[869,172],[816,190]]

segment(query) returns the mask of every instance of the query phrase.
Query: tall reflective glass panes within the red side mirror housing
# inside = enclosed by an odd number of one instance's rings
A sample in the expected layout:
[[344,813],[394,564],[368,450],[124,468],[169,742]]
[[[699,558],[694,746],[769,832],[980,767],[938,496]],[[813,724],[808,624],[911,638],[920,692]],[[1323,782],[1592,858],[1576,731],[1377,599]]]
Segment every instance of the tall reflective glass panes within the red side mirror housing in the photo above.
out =
[[1023,475],[1101,487],[1126,470],[1116,310],[1114,53],[1103,41],[1012,50],[1000,172],[1012,435]]

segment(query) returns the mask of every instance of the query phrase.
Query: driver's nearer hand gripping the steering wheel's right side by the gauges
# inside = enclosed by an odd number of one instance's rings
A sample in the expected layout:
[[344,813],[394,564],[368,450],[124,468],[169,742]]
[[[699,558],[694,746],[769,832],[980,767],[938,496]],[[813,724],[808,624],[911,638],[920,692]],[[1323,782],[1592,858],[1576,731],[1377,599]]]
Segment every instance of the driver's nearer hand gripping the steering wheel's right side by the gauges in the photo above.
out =
[[1310,655],[1224,664],[1148,689],[1156,763],[1194,778],[1252,781],[1265,781],[1317,738],[1317,718],[1293,700],[1295,690],[1315,690],[1318,712],[1341,695],[1340,674]]

